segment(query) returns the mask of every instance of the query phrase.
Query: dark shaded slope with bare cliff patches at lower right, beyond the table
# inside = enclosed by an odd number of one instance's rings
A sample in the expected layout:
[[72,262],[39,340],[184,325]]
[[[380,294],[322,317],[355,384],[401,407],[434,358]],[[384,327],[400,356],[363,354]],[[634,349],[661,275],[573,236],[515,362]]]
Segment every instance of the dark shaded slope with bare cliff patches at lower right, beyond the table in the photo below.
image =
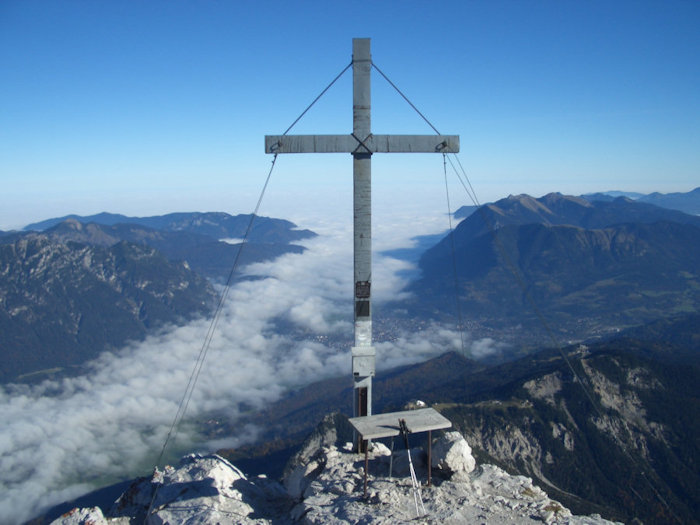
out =
[[511,382],[462,395],[443,414],[481,461],[532,476],[575,512],[690,523],[700,510],[699,369],[640,357],[640,346],[620,340],[569,353],[590,398],[550,355],[541,372],[511,372]]

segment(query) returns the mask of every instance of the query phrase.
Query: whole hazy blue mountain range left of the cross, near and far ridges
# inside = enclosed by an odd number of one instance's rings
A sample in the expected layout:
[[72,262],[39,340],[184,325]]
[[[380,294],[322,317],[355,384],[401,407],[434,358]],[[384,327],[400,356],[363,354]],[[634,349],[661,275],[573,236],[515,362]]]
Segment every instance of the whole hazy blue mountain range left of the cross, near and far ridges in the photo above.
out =
[[[212,282],[226,281],[234,260],[240,267],[299,253],[303,248],[290,243],[315,235],[256,217],[241,251],[250,222],[250,215],[225,213],[100,214],[6,233],[0,382],[66,372],[159,327],[205,316],[217,301]],[[47,229],[34,231],[40,228]]]

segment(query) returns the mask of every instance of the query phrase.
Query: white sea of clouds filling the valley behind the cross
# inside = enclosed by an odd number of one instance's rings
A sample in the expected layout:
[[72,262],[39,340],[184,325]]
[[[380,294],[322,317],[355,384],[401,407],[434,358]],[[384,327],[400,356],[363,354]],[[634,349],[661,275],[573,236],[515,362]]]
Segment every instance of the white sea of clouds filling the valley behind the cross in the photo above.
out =
[[[444,224],[444,217],[434,217],[377,230],[377,304],[402,297],[406,283],[400,275],[410,269],[381,251],[409,246],[412,236],[435,233]],[[242,403],[262,408],[290,388],[348,372],[349,348],[316,336],[346,338],[348,346],[352,341],[351,225],[317,223],[312,229],[320,235],[305,242],[305,253],[252,265],[245,273],[254,278],[231,288],[186,419],[221,410],[235,419]],[[22,522],[107,481],[148,474],[209,326],[209,319],[200,319],[163,329],[102,354],[78,377],[1,387],[0,523]],[[293,329],[280,333],[278,326]],[[470,345],[481,356],[497,346],[490,340]],[[461,338],[453,328],[432,325],[375,346],[381,370],[459,351]],[[256,431],[242,428],[226,445],[253,441]],[[196,436],[184,425],[174,448],[206,447]]]

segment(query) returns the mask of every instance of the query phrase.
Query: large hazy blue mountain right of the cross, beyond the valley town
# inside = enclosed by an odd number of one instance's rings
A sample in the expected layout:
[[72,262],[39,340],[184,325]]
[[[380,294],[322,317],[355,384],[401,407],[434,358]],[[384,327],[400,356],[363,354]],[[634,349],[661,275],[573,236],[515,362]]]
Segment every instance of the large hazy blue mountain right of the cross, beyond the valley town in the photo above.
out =
[[[521,327],[517,337],[541,341],[541,315],[580,339],[700,308],[700,217],[626,198],[520,195],[482,206],[452,235],[463,315],[502,334]],[[449,236],[420,267],[410,307],[454,316]]]

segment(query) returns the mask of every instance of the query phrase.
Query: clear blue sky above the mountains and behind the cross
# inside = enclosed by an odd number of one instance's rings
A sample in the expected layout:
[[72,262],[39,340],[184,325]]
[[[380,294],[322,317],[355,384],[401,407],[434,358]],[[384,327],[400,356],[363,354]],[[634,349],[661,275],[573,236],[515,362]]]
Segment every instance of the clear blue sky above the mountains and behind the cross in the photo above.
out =
[[[263,136],[350,62],[353,37],[372,38],[375,63],[461,136],[482,201],[689,191],[698,27],[696,1],[4,0],[0,229],[69,213],[252,211],[271,160]],[[372,90],[375,133],[431,132],[376,74]],[[350,129],[348,72],[293,132]],[[375,155],[377,199],[444,193],[436,157]],[[281,157],[262,212],[345,195],[351,164]]]

